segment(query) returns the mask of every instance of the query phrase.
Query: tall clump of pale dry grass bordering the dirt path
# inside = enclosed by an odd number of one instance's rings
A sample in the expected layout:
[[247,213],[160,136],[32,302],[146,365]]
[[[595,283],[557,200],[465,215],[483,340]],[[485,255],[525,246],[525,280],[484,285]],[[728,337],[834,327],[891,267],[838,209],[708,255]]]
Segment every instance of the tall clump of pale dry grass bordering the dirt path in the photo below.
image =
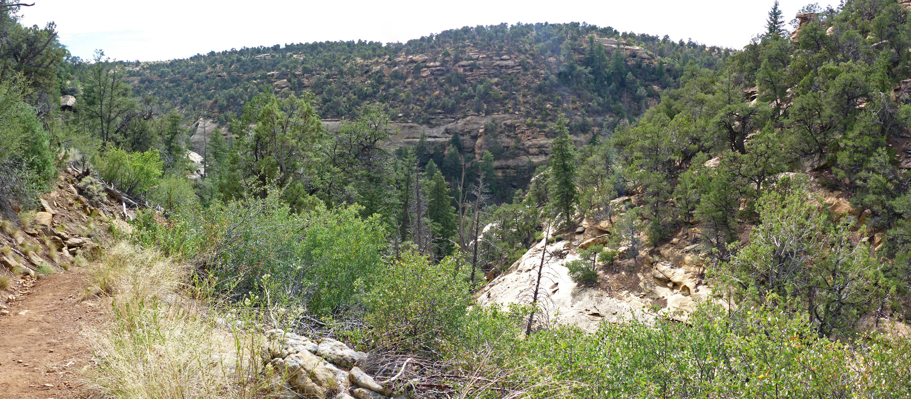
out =
[[84,377],[93,396],[233,399],[268,391],[260,362],[238,361],[256,358],[256,335],[220,331],[213,311],[182,299],[187,271],[178,262],[119,243],[92,267],[87,293],[113,296],[114,311],[109,330],[89,332],[97,367]]

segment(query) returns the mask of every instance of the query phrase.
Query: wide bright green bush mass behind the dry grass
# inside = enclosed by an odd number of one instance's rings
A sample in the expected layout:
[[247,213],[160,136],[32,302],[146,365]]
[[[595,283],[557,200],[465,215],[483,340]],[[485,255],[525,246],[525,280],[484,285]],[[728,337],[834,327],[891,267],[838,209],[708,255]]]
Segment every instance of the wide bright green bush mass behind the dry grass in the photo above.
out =
[[253,296],[261,301],[253,305],[305,315],[343,312],[383,268],[383,224],[361,218],[357,206],[293,213],[281,196],[271,189],[265,199],[187,207],[167,220],[141,212],[136,239],[200,264],[200,278],[230,301]]

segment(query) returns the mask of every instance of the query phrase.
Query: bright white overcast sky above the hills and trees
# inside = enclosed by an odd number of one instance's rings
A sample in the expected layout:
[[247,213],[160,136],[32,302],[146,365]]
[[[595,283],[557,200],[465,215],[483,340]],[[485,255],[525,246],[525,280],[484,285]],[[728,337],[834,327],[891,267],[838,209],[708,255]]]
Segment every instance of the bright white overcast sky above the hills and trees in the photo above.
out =
[[[61,42],[73,55],[88,59],[100,48],[107,56],[130,61],[327,40],[405,42],[446,29],[504,22],[587,22],[741,48],[763,31],[773,5],[773,0],[29,1],[36,5],[22,7],[22,22],[44,26],[55,21]],[[785,22],[806,4],[781,0]]]

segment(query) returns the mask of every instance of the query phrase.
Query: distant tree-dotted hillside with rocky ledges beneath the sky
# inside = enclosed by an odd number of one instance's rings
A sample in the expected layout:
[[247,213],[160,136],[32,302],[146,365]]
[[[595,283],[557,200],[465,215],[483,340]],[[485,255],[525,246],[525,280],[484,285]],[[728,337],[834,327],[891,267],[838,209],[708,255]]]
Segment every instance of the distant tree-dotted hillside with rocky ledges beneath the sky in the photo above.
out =
[[[477,26],[404,44],[326,42],[243,48],[160,63],[123,63],[137,96],[200,116],[203,131],[228,130],[231,116],[262,90],[315,95],[330,130],[367,104],[388,108],[394,148],[422,135],[445,151],[453,134],[463,153],[493,153],[500,175],[539,165],[558,113],[579,143],[634,120],[677,87],[691,61],[715,67],[732,51],[579,24]],[[203,125],[203,128],[199,128]],[[521,188],[525,181],[509,181]]]

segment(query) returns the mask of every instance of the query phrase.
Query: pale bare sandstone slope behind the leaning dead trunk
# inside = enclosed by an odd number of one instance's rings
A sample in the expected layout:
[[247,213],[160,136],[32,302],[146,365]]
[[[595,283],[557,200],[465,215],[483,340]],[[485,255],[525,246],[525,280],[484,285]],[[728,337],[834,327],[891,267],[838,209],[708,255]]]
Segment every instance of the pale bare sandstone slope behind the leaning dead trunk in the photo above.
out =
[[[656,317],[686,321],[697,302],[710,300],[711,290],[702,279],[705,260],[700,246],[691,244],[686,234],[660,248],[640,251],[635,259],[630,247],[610,248],[619,252],[613,267],[599,266],[599,282],[586,286],[569,277],[567,264],[579,259],[578,249],[606,244],[608,220],[584,220],[575,234],[562,234],[563,240],[548,244],[539,296],[550,322],[574,324],[593,332],[602,322],[631,319],[650,322]],[[544,240],[529,249],[507,271],[476,293],[482,305],[527,303],[528,292],[537,283]]]

